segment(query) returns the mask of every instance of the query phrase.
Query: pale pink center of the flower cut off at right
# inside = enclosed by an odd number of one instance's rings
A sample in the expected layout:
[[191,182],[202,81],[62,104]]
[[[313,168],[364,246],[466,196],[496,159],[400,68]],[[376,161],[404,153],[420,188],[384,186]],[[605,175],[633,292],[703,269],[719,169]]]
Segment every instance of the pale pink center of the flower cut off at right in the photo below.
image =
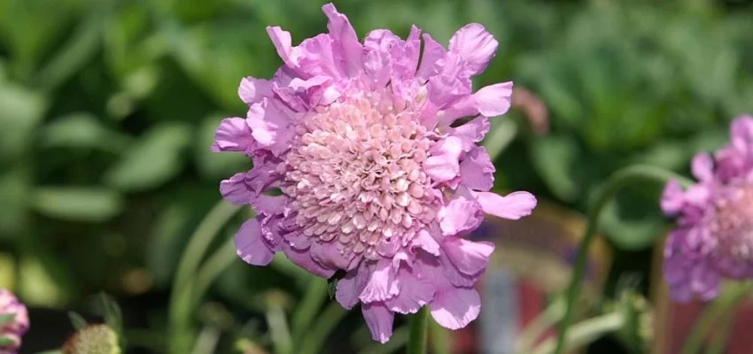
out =
[[753,261],[753,186],[737,189],[733,196],[718,201],[717,215],[710,230],[720,255]]

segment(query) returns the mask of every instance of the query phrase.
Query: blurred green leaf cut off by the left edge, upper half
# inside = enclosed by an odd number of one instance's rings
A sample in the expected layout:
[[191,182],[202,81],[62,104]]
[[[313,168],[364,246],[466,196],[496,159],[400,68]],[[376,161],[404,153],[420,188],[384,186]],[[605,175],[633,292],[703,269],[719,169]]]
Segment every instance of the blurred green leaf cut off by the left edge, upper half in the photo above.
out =
[[0,83],[0,161],[18,158],[27,150],[44,109],[45,100],[39,93]]

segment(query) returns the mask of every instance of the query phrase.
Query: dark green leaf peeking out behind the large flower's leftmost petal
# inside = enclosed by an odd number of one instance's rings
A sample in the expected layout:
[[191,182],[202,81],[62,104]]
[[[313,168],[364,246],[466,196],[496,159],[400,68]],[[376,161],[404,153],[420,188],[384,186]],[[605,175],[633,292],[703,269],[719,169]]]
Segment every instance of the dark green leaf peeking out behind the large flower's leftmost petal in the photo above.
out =
[[207,117],[201,123],[194,143],[194,157],[201,174],[207,179],[216,181],[218,178],[227,178],[239,171],[248,170],[251,167],[249,158],[243,153],[216,153],[210,150],[214,141],[214,131],[220,125],[222,117]]

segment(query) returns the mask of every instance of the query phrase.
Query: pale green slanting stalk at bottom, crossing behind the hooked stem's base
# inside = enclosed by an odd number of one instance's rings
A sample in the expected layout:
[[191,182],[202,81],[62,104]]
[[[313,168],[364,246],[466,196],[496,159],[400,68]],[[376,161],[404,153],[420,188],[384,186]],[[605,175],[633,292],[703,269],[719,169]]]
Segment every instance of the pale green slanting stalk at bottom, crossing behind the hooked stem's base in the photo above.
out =
[[[565,337],[565,349],[574,349],[594,342],[609,332],[614,332],[625,325],[625,317],[620,312],[610,312],[593,319],[586,319],[572,327]],[[556,343],[559,345],[559,342]],[[532,354],[549,354],[555,350],[555,340],[542,342]]]

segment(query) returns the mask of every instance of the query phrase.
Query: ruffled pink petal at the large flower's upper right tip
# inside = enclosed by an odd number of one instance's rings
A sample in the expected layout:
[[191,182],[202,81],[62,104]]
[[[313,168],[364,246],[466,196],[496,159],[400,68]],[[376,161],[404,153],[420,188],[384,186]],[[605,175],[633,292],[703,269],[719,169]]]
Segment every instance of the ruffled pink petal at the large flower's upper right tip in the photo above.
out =
[[482,73],[494,58],[499,42],[484,26],[471,23],[459,29],[450,38],[449,50],[465,59],[460,74],[466,76]]

